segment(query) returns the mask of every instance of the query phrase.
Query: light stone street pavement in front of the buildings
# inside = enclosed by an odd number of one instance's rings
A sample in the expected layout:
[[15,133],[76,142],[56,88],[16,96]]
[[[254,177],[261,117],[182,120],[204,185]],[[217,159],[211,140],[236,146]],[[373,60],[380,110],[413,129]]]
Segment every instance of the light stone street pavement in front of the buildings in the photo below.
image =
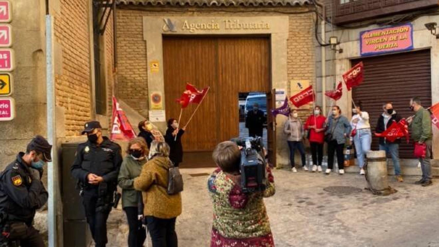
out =
[[[208,247],[212,204],[206,181],[212,169],[182,172],[179,246]],[[363,190],[366,183],[360,175],[275,170],[274,176],[276,195],[265,202],[277,247],[439,247],[439,182],[421,187],[413,184],[418,177],[404,183],[389,179],[398,192],[379,197]],[[352,186],[359,192],[325,191],[329,186]],[[112,211],[108,228],[108,246],[126,247],[128,226],[122,210]]]

